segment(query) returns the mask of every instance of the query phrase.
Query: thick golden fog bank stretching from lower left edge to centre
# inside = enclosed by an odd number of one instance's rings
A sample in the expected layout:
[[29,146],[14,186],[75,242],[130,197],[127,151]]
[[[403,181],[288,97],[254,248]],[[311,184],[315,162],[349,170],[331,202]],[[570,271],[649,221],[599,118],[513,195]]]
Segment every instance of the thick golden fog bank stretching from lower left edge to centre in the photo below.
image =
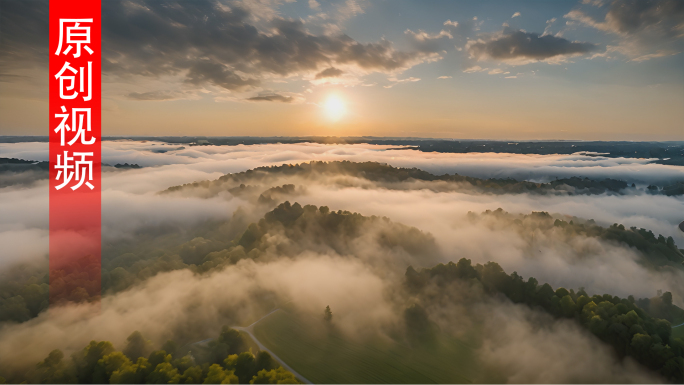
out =
[[[384,286],[383,279],[358,260],[315,254],[270,263],[246,260],[204,276],[174,271],[106,296],[102,304],[56,307],[29,322],[3,325],[0,361],[15,367],[35,365],[52,349],[68,355],[91,340],[109,340],[121,349],[134,330],[157,344],[168,338],[214,337],[223,325],[245,325],[250,317],[262,315],[259,293],[273,293],[280,303],[292,300],[312,313],[329,304],[339,324],[376,328],[373,321],[391,315]],[[342,319],[344,313],[348,322]]]

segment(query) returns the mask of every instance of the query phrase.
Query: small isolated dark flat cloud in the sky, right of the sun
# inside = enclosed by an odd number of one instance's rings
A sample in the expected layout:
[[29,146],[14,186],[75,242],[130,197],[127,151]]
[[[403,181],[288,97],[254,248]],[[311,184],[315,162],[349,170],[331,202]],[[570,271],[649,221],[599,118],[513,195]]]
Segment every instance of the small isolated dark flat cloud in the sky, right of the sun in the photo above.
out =
[[546,60],[557,56],[586,54],[596,50],[597,46],[506,28],[501,36],[489,41],[471,41],[467,48],[470,56],[477,60]]

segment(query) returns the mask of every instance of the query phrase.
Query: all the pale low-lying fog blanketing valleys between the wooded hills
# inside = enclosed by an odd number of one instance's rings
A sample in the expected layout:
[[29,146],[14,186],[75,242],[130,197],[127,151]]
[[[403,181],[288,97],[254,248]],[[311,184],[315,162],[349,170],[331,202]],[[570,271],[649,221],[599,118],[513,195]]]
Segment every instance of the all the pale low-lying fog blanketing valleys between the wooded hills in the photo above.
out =
[[[0,144],[0,157],[46,160],[47,144]],[[103,236],[108,239],[130,237],[141,227],[162,223],[189,225],[207,219],[229,219],[238,207],[258,211],[247,200],[227,193],[203,199],[157,195],[157,192],[170,186],[216,179],[226,173],[258,166],[310,160],[377,161],[398,167],[418,167],[437,174],[459,173],[534,181],[567,176],[610,177],[637,184],[684,180],[682,167],[652,164],[642,159],[582,155],[436,154],[363,144],[189,147],[152,142],[104,142],[104,163],[136,163],[144,168],[103,173]],[[0,189],[0,269],[18,262],[46,258],[47,194],[47,180],[36,181],[29,187]],[[479,263],[491,260],[501,264],[509,273],[517,271],[524,277],[534,276],[554,287],[585,287],[590,293],[652,297],[657,290],[670,290],[675,294],[675,302],[683,303],[684,287],[681,282],[684,276],[681,273],[647,270],[636,262],[636,252],[626,247],[589,238],[559,243],[553,236],[540,235],[533,243],[537,251],[531,255],[529,240],[513,229],[494,231],[466,220],[469,211],[480,213],[499,207],[521,214],[547,211],[594,219],[604,226],[617,222],[627,227],[644,227],[656,234],[673,236],[682,248],[684,233],[677,229],[677,224],[684,220],[682,197],[438,193],[412,189],[344,188],[321,181],[306,186],[306,194],[295,200],[301,204],[329,206],[332,210],[387,216],[394,222],[415,226],[435,237],[445,262],[462,257]],[[243,261],[238,266],[204,277],[193,277],[189,271],[160,274],[142,287],[105,298],[101,312],[95,311],[91,305],[73,305],[53,309],[21,325],[0,328],[0,361],[14,356],[36,362],[51,349],[80,348],[91,339],[109,339],[120,344],[135,329],[160,341],[189,323],[200,330],[207,324],[217,327],[216,319],[226,310],[233,314],[230,322],[244,322],[254,312],[245,308],[244,296],[249,288],[255,287],[278,291],[304,310],[318,311],[325,304],[330,304],[341,314],[353,314],[349,315],[348,321],[355,328],[394,322],[390,311],[393,299],[386,293],[396,283],[384,282],[382,277],[364,269],[360,263],[336,256],[304,255],[292,261],[264,264]],[[231,282],[230,288],[225,288],[225,282]],[[327,289],[319,290],[322,286]],[[232,290],[233,287],[242,289]],[[362,303],[354,303],[363,311],[353,309],[345,299],[349,297],[365,298]],[[512,318],[505,328],[493,328],[491,323],[486,325],[496,333],[480,353],[487,362],[502,366],[510,381],[570,382],[578,378],[551,365],[554,359],[578,360],[580,365],[577,367],[583,368],[580,370],[595,374],[582,377],[582,380],[590,382],[607,379],[618,382],[657,381],[632,363],[619,362],[608,349],[592,348],[596,343],[593,337],[572,325],[557,322],[550,330],[558,333],[547,331],[548,335],[541,334],[546,337],[534,337],[536,329],[530,326],[533,324],[529,320],[531,316],[520,313],[520,310],[512,310],[511,313],[506,306],[509,305],[492,310],[495,312],[492,317],[501,317],[500,312],[507,311]],[[192,312],[188,311],[190,308]],[[525,351],[535,357],[543,357],[542,361],[516,361],[515,357],[522,355],[511,352],[523,346],[520,335],[525,336],[525,341],[532,341],[524,345]],[[548,341],[552,339],[551,335],[559,339],[559,344],[570,347],[552,347]],[[569,345],[569,341],[581,347],[573,349],[575,345]],[[583,355],[582,352],[587,350],[591,354]],[[615,377],[616,373],[625,374]]]

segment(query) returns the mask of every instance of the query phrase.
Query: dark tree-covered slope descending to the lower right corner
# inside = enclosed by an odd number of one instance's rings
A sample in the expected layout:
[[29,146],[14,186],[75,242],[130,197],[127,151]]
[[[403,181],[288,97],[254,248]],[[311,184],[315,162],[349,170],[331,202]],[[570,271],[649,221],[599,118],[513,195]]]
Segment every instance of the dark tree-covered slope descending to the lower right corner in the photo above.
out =
[[[684,381],[684,339],[673,338],[671,323],[649,315],[631,296],[592,296],[584,290],[554,290],[548,283],[540,285],[533,277],[525,280],[515,272],[509,275],[495,262],[473,266],[465,258],[420,271],[409,267],[405,275],[407,290],[419,298],[423,307],[448,303],[454,290],[458,290],[459,296],[473,292],[462,290],[462,286],[454,285],[456,282],[475,285],[491,296],[503,294],[514,303],[541,309],[557,318],[574,319],[610,344],[619,356],[633,357],[675,383]],[[662,313],[681,316],[684,312],[672,304],[670,293],[659,300]]]

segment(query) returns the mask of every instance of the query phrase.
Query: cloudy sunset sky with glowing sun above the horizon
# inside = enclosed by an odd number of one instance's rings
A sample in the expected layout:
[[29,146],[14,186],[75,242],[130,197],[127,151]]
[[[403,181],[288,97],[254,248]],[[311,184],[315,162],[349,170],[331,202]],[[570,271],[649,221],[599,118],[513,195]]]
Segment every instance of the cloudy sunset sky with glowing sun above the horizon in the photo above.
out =
[[[114,135],[683,140],[680,0],[102,3]],[[47,135],[47,1],[0,0],[0,135]]]

